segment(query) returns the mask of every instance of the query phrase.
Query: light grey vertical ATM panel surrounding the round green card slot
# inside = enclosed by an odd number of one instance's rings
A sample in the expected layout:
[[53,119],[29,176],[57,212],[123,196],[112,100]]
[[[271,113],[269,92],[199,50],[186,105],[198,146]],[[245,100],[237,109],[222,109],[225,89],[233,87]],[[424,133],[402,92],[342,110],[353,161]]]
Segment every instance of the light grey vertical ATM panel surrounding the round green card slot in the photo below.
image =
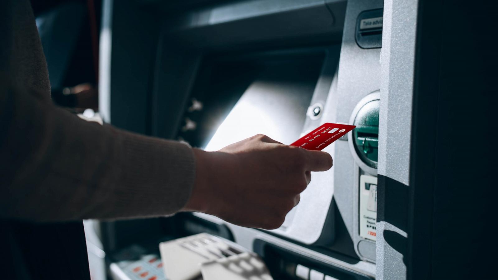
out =
[[[368,100],[374,100],[374,92],[380,89],[380,48],[362,48],[357,42],[357,25],[364,11],[379,10],[383,1],[348,1],[339,62],[337,85],[337,121],[354,122],[357,112]],[[378,25],[376,26],[378,27]],[[375,95],[375,94],[373,94]],[[377,98],[378,99],[378,98]],[[361,176],[376,178],[376,168],[367,166],[358,158],[353,147],[355,131],[347,141],[337,141],[335,146],[334,193],[339,212],[354,243],[354,249],[362,260],[375,261],[375,242],[360,235],[360,179]],[[373,228],[371,228],[373,229]]]

